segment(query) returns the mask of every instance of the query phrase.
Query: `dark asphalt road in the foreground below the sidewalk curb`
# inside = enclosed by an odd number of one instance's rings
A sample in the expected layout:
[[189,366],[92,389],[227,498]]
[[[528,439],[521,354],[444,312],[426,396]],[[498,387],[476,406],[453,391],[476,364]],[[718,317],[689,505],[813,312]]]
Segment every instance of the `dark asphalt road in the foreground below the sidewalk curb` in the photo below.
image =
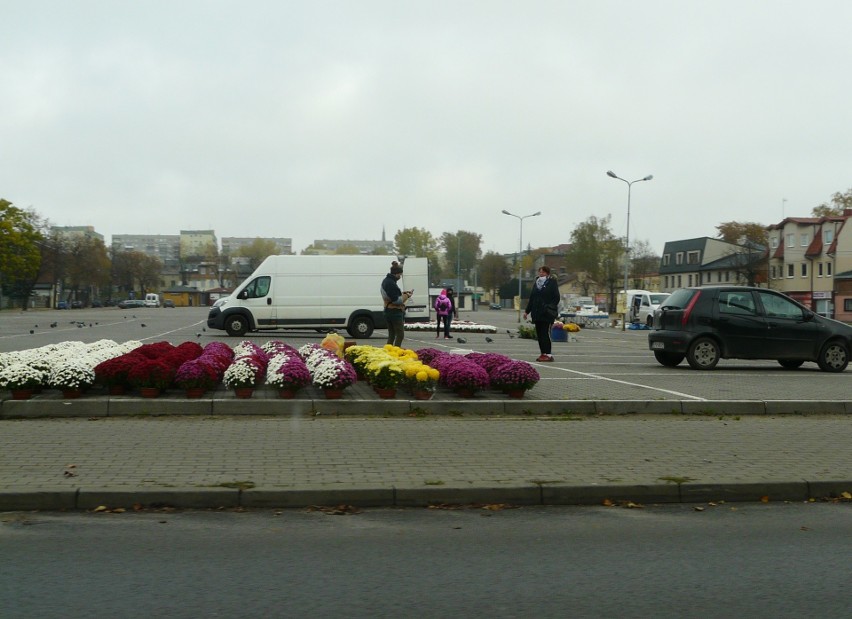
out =
[[3,514],[0,616],[848,616],[849,504],[489,507]]

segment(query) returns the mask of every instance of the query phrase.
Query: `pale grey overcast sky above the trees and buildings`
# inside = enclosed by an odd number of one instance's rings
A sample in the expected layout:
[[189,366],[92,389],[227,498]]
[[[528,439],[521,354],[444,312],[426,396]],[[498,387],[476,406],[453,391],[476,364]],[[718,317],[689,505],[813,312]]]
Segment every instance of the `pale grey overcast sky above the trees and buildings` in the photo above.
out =
[[852,187],[848,0],[0,0],[0,197],[113,234],[483,250]]

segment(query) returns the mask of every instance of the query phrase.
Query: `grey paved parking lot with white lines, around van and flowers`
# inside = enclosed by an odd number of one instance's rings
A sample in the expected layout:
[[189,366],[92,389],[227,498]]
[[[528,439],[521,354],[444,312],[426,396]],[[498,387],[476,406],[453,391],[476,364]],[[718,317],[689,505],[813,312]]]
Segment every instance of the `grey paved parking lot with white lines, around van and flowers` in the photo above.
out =
[[[63,340],[139,340],[172,343],[221,340],[235,344],[223,331],[206,328],[207,308],[118,308],[0,312],[0,352],[35,348]],[[510,310],[463,312],[462,319],[496,327],[494,334],[454,332],[463,343],[436,339],[434,333],[410,331],[403,345],[446,350],[500,352],[533,361],[533,340],[513,337],[518,315]],[[56,326],[51,326],[55,324]],[[32,333],[31,333],[32,331]],[[384,331],[359,343],[381,345]],[[315,331],[255,333],[249,339],[280,339],[295,346],[319,342]],[[492,341],[488,342],[486,337]],[[716,370],[699,372],[686,363],[659,365],[648,350],[646,331],[617,328],[583,329],[576,341],[554,343],[556,363],[536,364],[542,381],[529,397],[572,400],[793,400],[844,402],[852,393],[852,368],[842,374],[820,372],[806,363],[794,371],[774,361],[722,360]],[[842,411],[839,411],[842,412]]]

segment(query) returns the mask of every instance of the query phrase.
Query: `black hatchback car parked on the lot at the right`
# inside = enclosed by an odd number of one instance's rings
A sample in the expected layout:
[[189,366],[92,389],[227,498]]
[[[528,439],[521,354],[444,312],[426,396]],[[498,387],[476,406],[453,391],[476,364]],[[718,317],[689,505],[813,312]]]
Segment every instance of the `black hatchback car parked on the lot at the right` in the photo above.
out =
[[712,370],[719,359],[776,359],[788,369],[814,361],[824,372],[842,372],[852,350],[852,326],[774,290],[681,288],[655,310],[648,346],[668,367],[684,358],[696,370]]

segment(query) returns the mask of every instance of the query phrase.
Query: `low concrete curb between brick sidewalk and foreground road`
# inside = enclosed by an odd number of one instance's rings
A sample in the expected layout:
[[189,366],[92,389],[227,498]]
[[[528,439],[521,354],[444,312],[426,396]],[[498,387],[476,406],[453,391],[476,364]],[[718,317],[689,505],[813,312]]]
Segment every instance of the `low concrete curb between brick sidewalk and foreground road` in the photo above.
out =
[[353,505],[357,507],[428,507],[431,505],[601,505],[708,502],[807,501],[836,498],[852,490],[842,481],[773,481],[589,486],[530,484],[522,486],[432,486],[418,488],[79,488],[56,491],[0,491],[0,512],[143,509],[302,508]]

